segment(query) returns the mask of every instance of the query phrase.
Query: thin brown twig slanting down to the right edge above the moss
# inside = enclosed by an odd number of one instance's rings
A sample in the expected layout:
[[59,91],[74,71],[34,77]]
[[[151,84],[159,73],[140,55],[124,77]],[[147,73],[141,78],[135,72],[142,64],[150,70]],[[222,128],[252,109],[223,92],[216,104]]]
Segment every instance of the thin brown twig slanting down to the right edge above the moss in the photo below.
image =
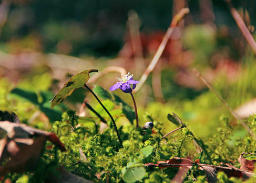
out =
[[218,94],[218,92],[211,86],[210,83],[208,83],[208,81],[206,81],[206,79],[203,78],[203,76],[196,70],[196,68],[193,69],[193,72],[196,74],[196,76],[198,76],[201,81],[206,84],[206,86],[213,91],[213,93],[220,99],[220,101],[228,108],[228,110],[231,112],[231,114],[233,115],[233,117],[235,117],[235,119],[237,119],[243,126],[243,128],[245,128],[252,136],[253,138],[256,140],[256,135],[253,133],[253,131],[248,127],[247,124],[245,124],[242,121],[242,118],[240,118],[237,113],[235,113],[235,111],[227,104],[226,101],[223,100],[223,98]]

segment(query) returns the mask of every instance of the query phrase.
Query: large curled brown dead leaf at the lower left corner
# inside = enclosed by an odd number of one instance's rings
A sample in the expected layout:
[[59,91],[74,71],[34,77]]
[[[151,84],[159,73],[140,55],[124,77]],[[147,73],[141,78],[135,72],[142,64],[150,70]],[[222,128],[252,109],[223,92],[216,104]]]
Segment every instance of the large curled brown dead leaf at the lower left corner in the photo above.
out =
[[[0,176],[34,169],[46,140],[60,150],[65,147],[54,133],[34,129],[26,124],[0,121]],[[6,160],[9,158],[9,161]]]

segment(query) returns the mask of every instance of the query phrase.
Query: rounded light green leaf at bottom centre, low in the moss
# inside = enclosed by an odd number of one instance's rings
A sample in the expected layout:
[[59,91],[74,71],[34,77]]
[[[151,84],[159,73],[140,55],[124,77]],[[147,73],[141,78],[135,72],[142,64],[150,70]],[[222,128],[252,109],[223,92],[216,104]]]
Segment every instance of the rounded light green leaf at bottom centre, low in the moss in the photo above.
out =
[[124,171],[122,170],[122,172],[124,172],[124,174],[122,175],[122,180],[124,180],[127,183],[134,183],[136,181],[139,181],[142,178],[144,178],[146,174],[146,170],[144,167],[128,168]]

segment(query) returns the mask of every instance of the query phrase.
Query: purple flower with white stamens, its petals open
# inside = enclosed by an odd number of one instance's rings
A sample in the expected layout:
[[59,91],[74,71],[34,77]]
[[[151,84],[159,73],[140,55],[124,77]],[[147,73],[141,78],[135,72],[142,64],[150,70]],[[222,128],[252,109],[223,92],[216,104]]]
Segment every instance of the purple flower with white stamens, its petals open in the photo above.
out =
[[[130,75],[130,73],[126,74],[125,76],[122,76],[121,78],[117,78],[118,82],[111,86],[109,89],[111,91],[114,91],[118,88],[120,88],[124,93],[131,93],[132,89],[136,87],[136,84],[139,83],[138,81],[132,80],[133,75]],[[130,87],[132,85],[132,89]]]

